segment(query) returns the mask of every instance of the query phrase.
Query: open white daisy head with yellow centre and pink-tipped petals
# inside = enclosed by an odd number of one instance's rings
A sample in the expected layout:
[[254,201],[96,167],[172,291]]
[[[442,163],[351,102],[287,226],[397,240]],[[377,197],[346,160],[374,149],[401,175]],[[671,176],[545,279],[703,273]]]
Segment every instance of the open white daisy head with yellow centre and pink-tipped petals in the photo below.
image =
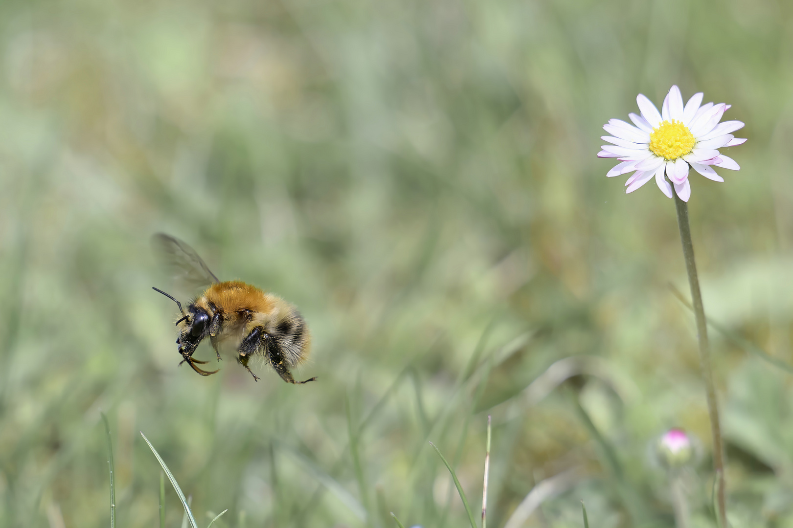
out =
[[690,168],[714,182],[724,181],[716,174],[714,166],[739,170],[741,167],[733,159],[717,149],[744,143],[745,139],[730,133],[744,124],[741,121],[719,123],[730,105],[712,102],[700,105],[702,96],[701,92],[694,94],[684,106],[680,89],[672,86],[658,112],[652,101],[638,94],[636,102],[642,115],[628,114],[636,126],[619,119],[611,119],[603,125],[611,136],[601,136],[601,139],[614,144],[603,145],[598,157],[616,158],[621,162],[606,175],[611,178],[633,172],[625,184],[626,193],[634,192],[654,176],[658,188],[670,198],[671,181],[677,196],[688,201],[691,197]]

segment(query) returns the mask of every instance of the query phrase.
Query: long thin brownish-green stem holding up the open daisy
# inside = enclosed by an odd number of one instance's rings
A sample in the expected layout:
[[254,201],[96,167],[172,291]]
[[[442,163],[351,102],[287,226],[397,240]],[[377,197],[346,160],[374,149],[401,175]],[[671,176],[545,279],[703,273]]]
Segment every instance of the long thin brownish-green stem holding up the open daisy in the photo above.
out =
[[716,388],[713,384],[711,367],[711,345],[707,341],[707,320],[702,305],[702,294],[699,293],[699,277],[694,262],[694,245],[691,243],[691,227],[688,224],[688,204],[675,193],[677,209],[677,226],[680,228],[680,241],[683,243],[683,256],[686,261],[688,284],[691,286],[691,301],[694,304],[697,338],[699,339],[699,364],[705,381],[707,393],[707,411],[711,418],[711,435],[713,437],[713,467],[716,479],[716,503],[718,504],[718,522],[726,528],[726,501],[724,497],[724,451],[722,449],[722,428],[718,421],[718,402]]

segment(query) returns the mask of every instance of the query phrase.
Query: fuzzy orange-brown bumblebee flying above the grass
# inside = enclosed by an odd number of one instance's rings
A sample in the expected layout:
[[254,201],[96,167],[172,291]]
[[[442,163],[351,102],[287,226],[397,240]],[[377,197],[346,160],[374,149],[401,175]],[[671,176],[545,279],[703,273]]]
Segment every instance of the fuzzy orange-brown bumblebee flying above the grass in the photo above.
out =
[[183,283],[196,288],[209,285],[204,293],[188,304],[186,312],[174,297],[152,288],[179,307],[180,315],[176,321],[179,331],[176,343],[179,354],[182,354],[179,365],[186,362],[201,376],[218,372],[201,369],[197,365],[207,362],[193,358],[198,344],[209,338],[218,361],[221,349],[236,350],[237,362],[251,373],[255,381],[259,381],[259,377],[248,366],[255,354],[262,354],[283,381],[303,384],[316,380],[312,377],[294,381],[289,372],[305,361],[311,348],[311,335],[305,320],[292,304],[243,281],[221,282],[192,247],[173,236],[158,233],[152,237],[151,243]]

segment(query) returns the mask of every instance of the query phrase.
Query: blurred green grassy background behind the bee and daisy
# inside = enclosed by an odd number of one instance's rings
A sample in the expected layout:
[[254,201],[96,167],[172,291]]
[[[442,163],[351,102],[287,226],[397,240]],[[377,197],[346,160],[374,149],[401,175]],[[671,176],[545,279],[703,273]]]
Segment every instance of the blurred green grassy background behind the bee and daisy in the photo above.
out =
[[[580,499],[674,526],[675,426],[714,526],[674,205],[605,178],[600,127],[675,83],[733,105],[741,171],[691,174],[705,306],[793,362],[791,26],[782,0],[4,0],[0,525],[109,525],[105,411],[117,526],[159,526],[139,430],[200,526],[465,526],[427,441],[478,517],[488,414],[488,526],[568,470],[525,526]],[[156,231],[297,304],[319,381],[178,367]],[[793,526],[791,375],[712,340],[732,522]]]

